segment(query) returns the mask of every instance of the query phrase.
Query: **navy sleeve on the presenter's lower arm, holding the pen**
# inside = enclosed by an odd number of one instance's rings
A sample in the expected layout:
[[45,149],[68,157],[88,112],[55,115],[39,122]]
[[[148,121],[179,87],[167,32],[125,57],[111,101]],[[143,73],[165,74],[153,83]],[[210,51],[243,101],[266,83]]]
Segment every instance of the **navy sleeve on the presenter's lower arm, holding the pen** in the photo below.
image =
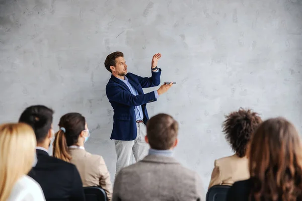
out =
[[117,102],[127,106],[141,106],[143,104],[154,102],[156,100],[154,91],[133,95],[127,90],[124,90],[118,84],[110,84],[106,86],[106,94],[109,101]]

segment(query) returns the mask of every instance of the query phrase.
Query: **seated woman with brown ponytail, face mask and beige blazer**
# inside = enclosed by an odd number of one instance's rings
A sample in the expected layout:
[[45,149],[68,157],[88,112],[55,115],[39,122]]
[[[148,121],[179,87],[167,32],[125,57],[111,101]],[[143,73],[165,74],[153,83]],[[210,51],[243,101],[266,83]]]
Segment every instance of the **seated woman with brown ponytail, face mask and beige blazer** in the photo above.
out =
[[103,157],[84,148],[90,136],[85,117],[79,113],[67,113],[61,117],[59,127],[53,142],[53,156],[77,166],[83,186],[100,186],[111,200],[110,174]]

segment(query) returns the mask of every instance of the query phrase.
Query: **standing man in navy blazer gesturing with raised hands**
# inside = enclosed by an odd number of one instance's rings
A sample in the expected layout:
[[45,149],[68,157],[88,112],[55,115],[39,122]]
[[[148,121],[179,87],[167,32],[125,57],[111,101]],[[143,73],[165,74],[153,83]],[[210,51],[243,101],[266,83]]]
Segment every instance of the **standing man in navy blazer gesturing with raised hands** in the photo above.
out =
[[159,95],[172,86],[163,84],[158,90],[143,93],[142,88],[158,86],[162,70],[157,67],[161,54],[152,58],[152,76],[140,77],[127,73],[127,65],[122,52],[113,52],[105,60],[106,69],[112,73],[106,85],[106,94],[113,108],[113,129],[110,139],[115,140],[117,154],[116,175],[119,170],[130,165],[133,153],[136,162],[148,154],[145,142],[145,124],[148,121],[146,104],[157,100]]

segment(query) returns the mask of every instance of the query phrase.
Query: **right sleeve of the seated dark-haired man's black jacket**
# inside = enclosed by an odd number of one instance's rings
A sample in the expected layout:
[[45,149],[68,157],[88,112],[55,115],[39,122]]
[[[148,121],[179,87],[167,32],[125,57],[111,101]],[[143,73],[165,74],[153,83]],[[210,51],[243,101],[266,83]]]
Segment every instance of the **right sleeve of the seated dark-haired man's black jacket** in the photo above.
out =
[[83,189],[83,183],[79,174],[77,167],[73,166],[73,183],[71,186],[71,196],[72,201],[85,201],[85,194]]

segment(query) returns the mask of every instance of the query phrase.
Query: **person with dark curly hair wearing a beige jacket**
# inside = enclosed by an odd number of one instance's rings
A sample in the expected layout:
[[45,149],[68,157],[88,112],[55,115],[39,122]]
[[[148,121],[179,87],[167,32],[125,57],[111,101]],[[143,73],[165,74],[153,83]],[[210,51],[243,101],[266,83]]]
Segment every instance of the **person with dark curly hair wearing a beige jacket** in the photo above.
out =
[[250,178],[247,145],[262,120],[257,113],[242,108],[225,118],[222,131],[235,154],[215,160],[209,188]]

